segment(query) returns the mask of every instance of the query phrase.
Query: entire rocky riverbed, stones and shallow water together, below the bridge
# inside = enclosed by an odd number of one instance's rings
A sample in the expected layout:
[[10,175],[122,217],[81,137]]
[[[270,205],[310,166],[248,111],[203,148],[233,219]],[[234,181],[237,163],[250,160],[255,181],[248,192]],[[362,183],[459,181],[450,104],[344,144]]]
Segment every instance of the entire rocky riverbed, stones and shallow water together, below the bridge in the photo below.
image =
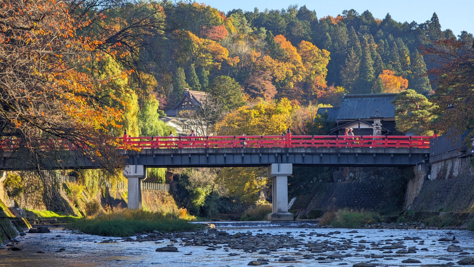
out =
[[52,229],[16,241],[0,249],[0,266],[474,265],[474,233],[448,229],[252,226],[126,238]]

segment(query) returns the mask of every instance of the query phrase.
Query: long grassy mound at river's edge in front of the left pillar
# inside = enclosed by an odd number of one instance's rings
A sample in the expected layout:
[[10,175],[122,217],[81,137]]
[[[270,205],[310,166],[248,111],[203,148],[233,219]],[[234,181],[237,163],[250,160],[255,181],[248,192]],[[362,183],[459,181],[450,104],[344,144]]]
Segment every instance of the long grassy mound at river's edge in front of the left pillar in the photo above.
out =
[[164,215],[146,210],[121,209],[101,212],[93,218],[75,219],[70,225],[71,228],[84,233],[111,237],[127,237],[155,230],[160,232],[189,231],[200,227],[185,219],[180,219],[191,218],[189,214],[184,215]]

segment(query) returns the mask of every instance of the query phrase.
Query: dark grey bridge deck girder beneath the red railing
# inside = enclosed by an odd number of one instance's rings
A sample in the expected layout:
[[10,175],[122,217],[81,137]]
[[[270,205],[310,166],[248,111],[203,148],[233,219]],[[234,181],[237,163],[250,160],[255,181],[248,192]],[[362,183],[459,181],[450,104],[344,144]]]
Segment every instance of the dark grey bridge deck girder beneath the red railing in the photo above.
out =
[[426,148],[182,148],[126,151],[130,165],[146,167],[410,166],[427,160]]

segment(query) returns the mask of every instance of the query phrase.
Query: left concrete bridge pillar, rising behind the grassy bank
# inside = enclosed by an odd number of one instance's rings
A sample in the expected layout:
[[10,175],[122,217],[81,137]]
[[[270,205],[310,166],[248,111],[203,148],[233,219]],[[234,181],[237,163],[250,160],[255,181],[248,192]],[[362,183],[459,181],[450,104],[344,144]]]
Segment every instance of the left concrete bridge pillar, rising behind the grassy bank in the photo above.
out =
[[146,168],[143,165],[127,165],[123,176],[128,180],[128,209],[142,209],[142,182],[146,179]]

